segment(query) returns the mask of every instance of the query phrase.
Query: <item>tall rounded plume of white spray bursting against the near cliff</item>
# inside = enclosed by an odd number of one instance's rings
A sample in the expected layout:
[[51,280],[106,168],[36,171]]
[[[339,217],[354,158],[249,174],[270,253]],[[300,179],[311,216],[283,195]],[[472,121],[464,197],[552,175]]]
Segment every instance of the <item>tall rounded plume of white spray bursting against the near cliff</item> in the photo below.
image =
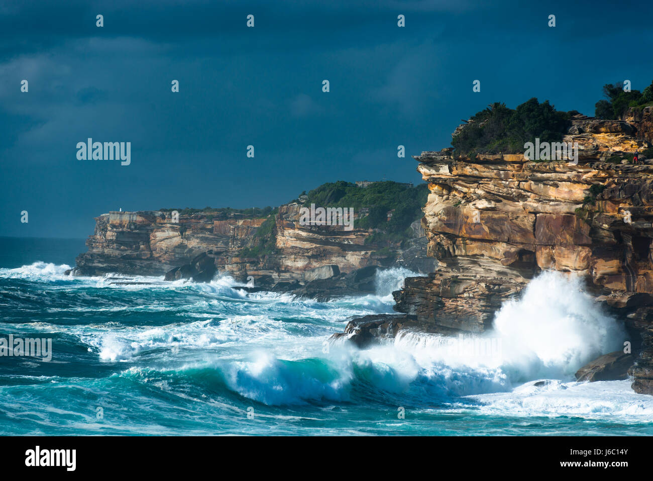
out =
[[503,340],[503,369],[515,380],[573,379],[582,365],[620,349],[626,339],[622,325],[584,293],[579,276],[553,271],[505,303],[488,335]]

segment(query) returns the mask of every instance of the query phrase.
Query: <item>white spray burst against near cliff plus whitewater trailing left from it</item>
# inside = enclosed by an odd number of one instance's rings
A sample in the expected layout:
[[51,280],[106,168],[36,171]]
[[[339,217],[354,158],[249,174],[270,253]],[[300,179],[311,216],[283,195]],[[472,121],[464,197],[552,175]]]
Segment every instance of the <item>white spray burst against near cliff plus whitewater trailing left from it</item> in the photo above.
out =
[[[470,339],[483,348],[470,350]],[[545,272],[518,299],[505,302],[493,329],[483,334],[460,339],[406,332],[394,345],[411,352],[424,367],[499,370],[516,384],[540,378],[573,380],[582,365],[618,350],[624,339],[623,327],[582,291],[580,278]]]

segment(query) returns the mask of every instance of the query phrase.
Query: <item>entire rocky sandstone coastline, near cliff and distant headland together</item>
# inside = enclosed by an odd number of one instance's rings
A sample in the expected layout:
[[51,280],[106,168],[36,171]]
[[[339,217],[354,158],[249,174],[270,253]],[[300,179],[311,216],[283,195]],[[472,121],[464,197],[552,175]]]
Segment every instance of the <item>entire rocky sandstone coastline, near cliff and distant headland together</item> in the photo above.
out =
[[523,152],[422,152],[414,158],[428,199],[410,239],[401,242],[379,242],[378,229],[360,225],[301,225],[302,201],[267,218],[195,212],[173,222],[165,210],[109,212],[95,219],[73,274],[205,282],[227,273],[253,282],[251,290],[315,299],[373,292],[382,267],[426,274],[406,278],[393,293],[397,314],[353,319],[332,338],[361,348],[401,331],[483,333],[537,274],[574,274],[624,322],[631,349],[603,353],[577,378],[629,375],[633,390],[653,394],[653,159],[640,154],[642,161],[631,163],[635,151],[652,152],[651,108],[631,108],[619,120],[573,112],[562,138],[577,144],[573,161],[535,161]]

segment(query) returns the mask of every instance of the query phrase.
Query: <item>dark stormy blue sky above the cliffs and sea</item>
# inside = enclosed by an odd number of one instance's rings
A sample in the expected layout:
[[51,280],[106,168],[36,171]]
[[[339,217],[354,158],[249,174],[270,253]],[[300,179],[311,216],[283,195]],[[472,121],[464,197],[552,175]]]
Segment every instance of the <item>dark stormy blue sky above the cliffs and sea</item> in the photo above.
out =
[[[450,146],[489,103],[593,115],[603,84],[650,84],[651,4],[569,3],[5,1],[0,235],[86,237],[109,210],[274,206],[334,180],[417,183],[410,156]],[[131,142],[131,165],[78,160],[88,137]]]

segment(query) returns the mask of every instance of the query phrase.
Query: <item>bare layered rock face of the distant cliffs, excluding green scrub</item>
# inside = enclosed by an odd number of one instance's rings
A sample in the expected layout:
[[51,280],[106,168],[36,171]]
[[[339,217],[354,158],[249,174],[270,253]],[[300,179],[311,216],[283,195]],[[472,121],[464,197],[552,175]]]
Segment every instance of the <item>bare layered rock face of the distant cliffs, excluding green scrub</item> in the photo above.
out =
[[421,239],[411,240],[404,249],[390,246],[379,254],[379,246],[366,243],[371,230],[300,225],[299,209],[296,203],[279,207],[272,229],[274,252],[256,257],[239,253],[255,245],[264,218],[192,214],[180,215],[175,223],[169,212],[103,214],[95,218],[95,231],[86,241],[88,252],[77,257],[74,274],[159,276],[204,253],[214,259],[218,271],[242,281],[253,276],[257,286],[266,288],[304,284],[307,273],[333,265],[337,266],[331,269],[333,275],[368,266],[434,270],[433,259],[426,259],[426,237],[419,224],[415,232]]

